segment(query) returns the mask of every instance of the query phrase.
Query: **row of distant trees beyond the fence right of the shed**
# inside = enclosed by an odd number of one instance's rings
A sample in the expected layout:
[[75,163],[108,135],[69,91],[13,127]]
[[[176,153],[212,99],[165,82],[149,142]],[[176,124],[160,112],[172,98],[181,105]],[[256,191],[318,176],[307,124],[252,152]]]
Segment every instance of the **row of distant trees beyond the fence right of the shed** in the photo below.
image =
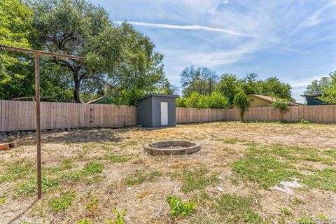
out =
[[[204,72],[206,71],[206,72]],[[183,97],[190,97],[193,92],[199,94],[211,94],[218,92],[233,104],[235,95],[239,92],[244,94],[262,94],[271,97],[292,100],[291,87],[288,83],[281,83],[276,77],[257,80],[257,73],[249,73],[245,78],[239,79],[235,74],[224,73],[220,78],[214,71],[207,68],[190,66],[181,73],[181,83],[185,87]],[[211,83],[211,87],[209,86]]]

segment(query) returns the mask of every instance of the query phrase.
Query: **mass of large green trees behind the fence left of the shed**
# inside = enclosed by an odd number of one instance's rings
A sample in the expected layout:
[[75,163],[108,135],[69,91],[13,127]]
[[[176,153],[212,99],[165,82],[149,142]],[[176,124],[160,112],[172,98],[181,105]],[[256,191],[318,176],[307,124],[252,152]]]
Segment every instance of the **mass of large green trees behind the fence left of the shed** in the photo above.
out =
[[[105,94],[135,104],[146,92],[172,93],[163,55],[130,24],[116,24],[86,0],[0,0],[0,43],[86,57],[41,57],[41,95],[82,102]],[[34,58],[0,52],[1,99],[34,95]]]

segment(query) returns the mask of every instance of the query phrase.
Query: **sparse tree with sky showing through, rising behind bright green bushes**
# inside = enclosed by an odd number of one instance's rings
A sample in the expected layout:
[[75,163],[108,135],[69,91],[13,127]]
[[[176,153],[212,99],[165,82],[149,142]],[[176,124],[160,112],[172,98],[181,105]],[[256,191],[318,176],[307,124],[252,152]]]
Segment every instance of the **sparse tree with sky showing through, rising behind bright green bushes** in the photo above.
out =
[[185,87],[183,95],[188,97],[193,92],[211,94],[211,92],[214,92],[217,80],[216,72],[206,67],[195,69],[194,66],[190,66],[190,68],[184,69],[181,73],[181,83]]

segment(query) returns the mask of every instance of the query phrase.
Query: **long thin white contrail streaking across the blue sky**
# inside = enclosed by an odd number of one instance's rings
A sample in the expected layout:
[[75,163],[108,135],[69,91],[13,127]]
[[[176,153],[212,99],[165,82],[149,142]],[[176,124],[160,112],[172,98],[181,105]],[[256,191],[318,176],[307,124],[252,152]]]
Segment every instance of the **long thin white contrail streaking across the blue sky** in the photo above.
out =
[[[117,21],[120,23],[121,21]],[[235,36],[249,36],[249,37],[258,37],[252,34],[243,34],[234,30],[230,29],[220,29],[214,27],[204,27],[199,25],[169,25],[169,24],[162,24],[162,23],[150,23],[150,22],[134,22],[134,21],[127,21],[128,23],[134,26],[141,26],[141,27],[153,27],[153,28],[165,28],[165,29],[192,29],[192,30],[204,30],[204,31],[214,31],[214,32],[221,32],[225,34],[235,35]]]

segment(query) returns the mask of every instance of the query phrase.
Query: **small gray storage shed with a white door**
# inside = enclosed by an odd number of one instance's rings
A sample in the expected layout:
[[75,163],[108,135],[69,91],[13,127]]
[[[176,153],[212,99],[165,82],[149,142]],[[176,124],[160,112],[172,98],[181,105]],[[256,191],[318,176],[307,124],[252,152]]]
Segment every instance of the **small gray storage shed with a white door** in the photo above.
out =
[[175,127],[175,99],[178,95],[147,94],[137,99],[138,125],[143,127]]

